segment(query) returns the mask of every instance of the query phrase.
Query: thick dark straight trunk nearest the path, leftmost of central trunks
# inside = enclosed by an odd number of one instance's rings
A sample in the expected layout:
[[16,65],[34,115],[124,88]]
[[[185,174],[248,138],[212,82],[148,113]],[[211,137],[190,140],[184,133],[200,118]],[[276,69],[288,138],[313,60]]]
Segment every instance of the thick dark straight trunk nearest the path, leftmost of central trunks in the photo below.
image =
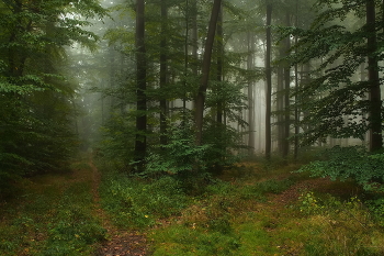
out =
[[147,62],[145,49],[145,1],[137,0],[136,2],[136,79],[137,79],[137,113],[136,113],[136,141],[135,141],[135,162],[136,170],[143,171],[145,167],[145,156],[147,147]]

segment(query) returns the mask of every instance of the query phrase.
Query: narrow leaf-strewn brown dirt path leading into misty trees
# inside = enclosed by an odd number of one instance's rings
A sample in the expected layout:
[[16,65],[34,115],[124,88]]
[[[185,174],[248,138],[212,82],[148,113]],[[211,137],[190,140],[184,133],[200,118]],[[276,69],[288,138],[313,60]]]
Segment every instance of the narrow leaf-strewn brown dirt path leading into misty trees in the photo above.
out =
[[92,168],[92,193],[95,203],[95,212],[102,220],[102,225],[108,231],[109,237],[109,240],[100,246],[95,256],[147,255],[147,241],[143,234],[118,230],[111,223],[108,214],[100,205],[99,186],[101,174],[94,166],[92,159],[89,160],[89,166]]

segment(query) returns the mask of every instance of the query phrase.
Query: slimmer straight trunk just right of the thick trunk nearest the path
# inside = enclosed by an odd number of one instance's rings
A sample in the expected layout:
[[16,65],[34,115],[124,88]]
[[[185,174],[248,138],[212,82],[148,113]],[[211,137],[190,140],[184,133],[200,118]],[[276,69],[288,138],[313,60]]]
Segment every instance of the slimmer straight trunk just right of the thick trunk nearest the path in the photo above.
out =
[[[167,48],[167,27],[168,27],[168,7],[167,0],[161,0],[161,41],[160,41],[160,90],[167,86],[167,62],[168,62],[168,48]],[[161,93],[162,94],[162,93]],[[167,144],[167,99],[166,96],[161,96],[160,99],[160,144]]]

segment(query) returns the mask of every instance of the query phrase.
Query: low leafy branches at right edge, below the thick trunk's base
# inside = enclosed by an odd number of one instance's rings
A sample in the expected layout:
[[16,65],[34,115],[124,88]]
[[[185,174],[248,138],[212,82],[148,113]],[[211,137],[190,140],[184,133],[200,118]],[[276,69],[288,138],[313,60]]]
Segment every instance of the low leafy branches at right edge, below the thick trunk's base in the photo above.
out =
[[383,190],[383,154],[369,154],[361,146],[336,146],[324,151],[320,157],[321,160],[312,162],[297,171],[310,171],[313,176],[330,177],[332,180],[352,178],[365,190]]

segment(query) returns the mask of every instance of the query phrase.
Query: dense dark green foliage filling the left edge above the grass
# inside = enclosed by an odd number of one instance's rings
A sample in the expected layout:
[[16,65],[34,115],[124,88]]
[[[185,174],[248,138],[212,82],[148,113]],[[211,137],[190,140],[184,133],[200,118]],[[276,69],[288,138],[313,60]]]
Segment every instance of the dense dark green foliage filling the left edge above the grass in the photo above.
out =
[[[102,18],[97,1],[2,1],[0,33],[0,196],[13,180],[63,169],[77,146],[76,86],[64,47],[94,48],[83,18]],[[8,186],[3,186],[8,185]]]

